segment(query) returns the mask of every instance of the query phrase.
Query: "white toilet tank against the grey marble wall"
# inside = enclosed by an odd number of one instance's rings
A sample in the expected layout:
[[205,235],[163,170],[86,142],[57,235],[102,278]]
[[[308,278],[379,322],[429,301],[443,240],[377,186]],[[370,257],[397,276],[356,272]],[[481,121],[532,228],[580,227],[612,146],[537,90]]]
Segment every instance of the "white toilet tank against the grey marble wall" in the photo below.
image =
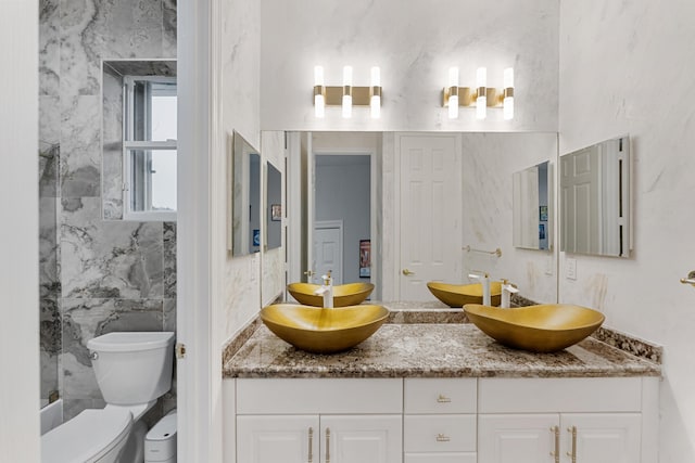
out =
[[106,403],[147,403],[172,387],[172,332],[109,333],[88,340],[87,348]]

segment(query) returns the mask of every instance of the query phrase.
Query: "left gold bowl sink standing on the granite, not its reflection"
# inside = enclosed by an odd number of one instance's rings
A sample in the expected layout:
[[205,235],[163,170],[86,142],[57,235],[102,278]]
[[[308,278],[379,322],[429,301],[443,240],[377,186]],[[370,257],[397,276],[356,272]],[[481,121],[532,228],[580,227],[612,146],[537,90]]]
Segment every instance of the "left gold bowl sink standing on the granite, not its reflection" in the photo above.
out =
[[362,343],[387,321],[389,309],[363,304],[324,309],[274,304],[261,309],[261,320],[279,338],[298,349],[332,353]]

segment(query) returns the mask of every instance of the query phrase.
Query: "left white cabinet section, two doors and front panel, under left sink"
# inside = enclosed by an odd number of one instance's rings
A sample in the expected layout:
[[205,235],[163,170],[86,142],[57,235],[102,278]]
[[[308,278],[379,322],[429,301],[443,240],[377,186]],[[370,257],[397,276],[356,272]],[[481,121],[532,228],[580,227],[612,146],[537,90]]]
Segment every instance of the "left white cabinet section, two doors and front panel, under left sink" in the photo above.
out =
[[402,462],[402,380],[237,380],[236,389],[237,462]]

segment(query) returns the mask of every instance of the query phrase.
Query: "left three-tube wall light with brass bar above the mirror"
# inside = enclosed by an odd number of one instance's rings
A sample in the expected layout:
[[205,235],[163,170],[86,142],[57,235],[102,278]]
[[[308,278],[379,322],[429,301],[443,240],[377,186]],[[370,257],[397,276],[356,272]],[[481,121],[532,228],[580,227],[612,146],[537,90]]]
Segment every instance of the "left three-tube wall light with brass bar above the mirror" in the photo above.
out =
[[353,87],[352,66],[343,67],[343,85],[327,87],[324,85],[324,67],[314,67],[314,115],[323,118],[326,106],[341,106],[344,118],[352,117],[353,106],[369,106],[371,117],[381,117],[381,70],[371,68],[370,87]]

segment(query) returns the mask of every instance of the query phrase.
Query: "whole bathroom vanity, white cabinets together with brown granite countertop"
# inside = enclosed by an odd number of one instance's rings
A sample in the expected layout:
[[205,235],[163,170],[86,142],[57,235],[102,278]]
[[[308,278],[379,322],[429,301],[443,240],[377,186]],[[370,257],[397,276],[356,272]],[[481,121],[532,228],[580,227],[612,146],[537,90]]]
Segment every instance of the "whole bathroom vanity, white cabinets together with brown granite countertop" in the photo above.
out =
[[470,323],[387,323],[319,356],[257,324],[226,353],[227,462],[657,461],[659,364],[593,337],[534,355]]

